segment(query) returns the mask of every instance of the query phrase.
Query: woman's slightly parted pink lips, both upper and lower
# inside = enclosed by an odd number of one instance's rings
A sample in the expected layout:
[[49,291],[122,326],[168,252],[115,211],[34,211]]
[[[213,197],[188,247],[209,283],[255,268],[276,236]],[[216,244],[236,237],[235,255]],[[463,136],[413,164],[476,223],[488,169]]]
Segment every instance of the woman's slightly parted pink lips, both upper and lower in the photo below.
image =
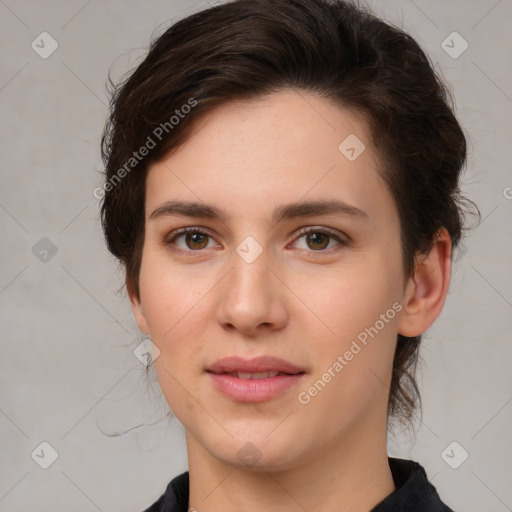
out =
[[[239,379],[232,372],[282,372],[266,379]],[[223,395],[237,402],[264,402],[297,386],[305,371],[298,366],[271,356],[253,359],[225,357],[206,369],[213,386]]]

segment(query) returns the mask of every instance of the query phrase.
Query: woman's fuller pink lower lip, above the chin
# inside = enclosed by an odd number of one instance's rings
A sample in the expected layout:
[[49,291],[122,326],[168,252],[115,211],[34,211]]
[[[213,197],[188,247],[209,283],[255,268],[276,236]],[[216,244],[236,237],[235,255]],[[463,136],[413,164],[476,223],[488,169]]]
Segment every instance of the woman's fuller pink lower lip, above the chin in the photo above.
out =
[[304,376],[276,375],[267,379],[239,379],[222,373],[209,373],[213,385],[224,395],[238,402],[264,402],[288,391]]

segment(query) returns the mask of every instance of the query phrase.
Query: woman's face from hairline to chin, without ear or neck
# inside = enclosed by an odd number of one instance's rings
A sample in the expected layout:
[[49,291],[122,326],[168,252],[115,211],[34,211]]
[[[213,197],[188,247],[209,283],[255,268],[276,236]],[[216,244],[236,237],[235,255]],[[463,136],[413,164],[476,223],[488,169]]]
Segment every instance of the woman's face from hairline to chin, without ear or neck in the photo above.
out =
[[132,306],[191,443],[275,470],[385,435],[405,283],[362,117],[302,91],[218,107],[150,167],[145,215]]

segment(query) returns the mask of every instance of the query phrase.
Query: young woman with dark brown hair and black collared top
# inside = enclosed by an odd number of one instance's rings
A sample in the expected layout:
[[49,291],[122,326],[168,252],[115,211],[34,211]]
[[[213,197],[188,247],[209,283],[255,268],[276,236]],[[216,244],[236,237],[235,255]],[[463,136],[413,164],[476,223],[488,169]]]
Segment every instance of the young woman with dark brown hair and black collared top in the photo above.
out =
[[120,84],[102,221],[189,471],[151,512],[449,511],[391,420],[462,232],[466,141],[407,34],[338,0],[238,0]]

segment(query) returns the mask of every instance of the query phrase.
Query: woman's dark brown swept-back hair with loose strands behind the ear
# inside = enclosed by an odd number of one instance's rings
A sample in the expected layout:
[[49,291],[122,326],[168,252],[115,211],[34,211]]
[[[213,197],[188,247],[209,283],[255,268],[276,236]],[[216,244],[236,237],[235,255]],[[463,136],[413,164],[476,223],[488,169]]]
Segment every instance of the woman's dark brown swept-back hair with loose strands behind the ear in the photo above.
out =
[[[237,0],[172,25],[114,85],[102,137],[101,217],[131,296],[139,297],[148,166],[184,143],[214,107],[289,88],[364,115],[397,206],[407,277],[440,228],[457,246],[462,205],[470,204],[459,190],[466,139],[449,91],[417,42],[348,1]],[[154,147],[135,159],[150,139]],[[388,419],[407,423],[421,405],[420,341],[398,335]]]

